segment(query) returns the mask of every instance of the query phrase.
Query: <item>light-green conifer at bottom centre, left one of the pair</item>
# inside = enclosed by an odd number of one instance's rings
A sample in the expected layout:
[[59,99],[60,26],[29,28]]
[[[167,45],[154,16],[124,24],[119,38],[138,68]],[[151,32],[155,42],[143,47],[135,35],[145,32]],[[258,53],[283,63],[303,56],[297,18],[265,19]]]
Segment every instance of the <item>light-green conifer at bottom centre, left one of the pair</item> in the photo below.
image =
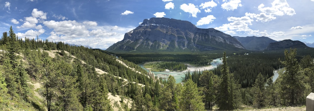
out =
[[176,80],[169,75],[167,83],[160,90],[160,109],[166,111],[179,110],[179,98],[176,88]]

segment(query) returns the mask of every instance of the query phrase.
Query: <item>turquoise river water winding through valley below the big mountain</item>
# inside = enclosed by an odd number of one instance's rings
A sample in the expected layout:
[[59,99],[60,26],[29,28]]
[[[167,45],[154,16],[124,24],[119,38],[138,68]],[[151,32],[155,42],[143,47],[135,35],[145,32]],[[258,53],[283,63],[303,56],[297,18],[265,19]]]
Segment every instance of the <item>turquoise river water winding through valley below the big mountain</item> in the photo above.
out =
[[[218,64],[221,64],[222,63],[222,60],[221,58],[217,58],[215,60],[213,60],[210,64],[213,66],[211,69],[214,69],[217,67]],[[141,66],[144,70],[146,70],[147,72],[149,72],[148,69],[144,68],[143,67],[143,64],[140,64],[139,66]],[[195,68],[196,70],[200,69],[204,69],[202,67],[196,67]],[[191,70],[191,71],[194,71],[194,70]],[[185,77],[185,74],[187,73],[187,71],[182,71],[182,72],[176,72],[176,71],[163,71],[163,72],[154,72],[152,71],[155,76],[159,76],[159,77],[162,77],[162,78],[168,78],[168,75],[172,75],[175,79],[176,79],[176,83],[180,83],[184,77]]]

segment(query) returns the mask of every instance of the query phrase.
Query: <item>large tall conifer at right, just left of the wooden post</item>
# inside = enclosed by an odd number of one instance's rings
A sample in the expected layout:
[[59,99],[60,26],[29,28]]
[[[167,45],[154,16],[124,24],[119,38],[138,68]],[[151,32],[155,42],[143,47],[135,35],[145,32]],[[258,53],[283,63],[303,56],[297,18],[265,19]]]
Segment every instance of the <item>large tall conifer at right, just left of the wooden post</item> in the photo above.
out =
[[305,90],[305,84],[302,81],[304,76],[299,71],[299,63],[296,56],[296,49],[291,49],[290,51],[285,50],[285,61],[281,63],[285,66],[286,71],[280,76],[282,79],[280,81],[281,86],[281,99],[283,100],[283,105],[295,105],[304,104],[303,94]]

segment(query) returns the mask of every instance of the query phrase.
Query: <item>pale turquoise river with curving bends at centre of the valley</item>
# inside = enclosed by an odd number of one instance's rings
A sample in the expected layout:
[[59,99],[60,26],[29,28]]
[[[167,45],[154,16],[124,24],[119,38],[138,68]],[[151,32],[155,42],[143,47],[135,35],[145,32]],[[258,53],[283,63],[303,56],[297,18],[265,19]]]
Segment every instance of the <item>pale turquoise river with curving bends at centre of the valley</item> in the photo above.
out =
[[[172,75],[176,79],[176,83],[180,83],[182,81],[182,78],[185,77],[185,73],[187,73],[188,70],[194,71],[194,70],[211,70],[217,67],[217,65],[222,64],[221,58],[214,59],[209,66],[202,66],[202,67],[195,67],[193,65],[187,64],[187,70],[182,72],[176,72],[176,71],[162,71],[162,72],[154,72],[152,71],[155,76],[159,76],[162,78],[168,78],[168,75]],[[148,69],[144,68],[144,63],[140,64],[139,66],[145,69],[147,72],[149,72]]]

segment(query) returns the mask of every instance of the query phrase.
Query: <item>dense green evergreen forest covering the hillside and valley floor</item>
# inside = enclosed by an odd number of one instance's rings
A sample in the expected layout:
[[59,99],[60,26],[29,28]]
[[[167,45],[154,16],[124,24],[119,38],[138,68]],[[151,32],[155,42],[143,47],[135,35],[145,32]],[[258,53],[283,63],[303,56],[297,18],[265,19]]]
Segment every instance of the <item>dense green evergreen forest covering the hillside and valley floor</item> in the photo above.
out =
[[[313,55],[297,55],[296,49],[232,55],[117,57],[38,37],[18,38],[11,27],[0,40],[0,109],[199,111],[241,109],[243,104],[260,109],[305,105],[307,94],[314,91]],[[221,56],[223,64],[216,69],[188,72],[181,83],[171,75],[159,79],[133,63],[163,60],[207,65]],[[279,67],[284,67],[279,78],[268,79]],[[116,95],[119,100],[108,99]]]

